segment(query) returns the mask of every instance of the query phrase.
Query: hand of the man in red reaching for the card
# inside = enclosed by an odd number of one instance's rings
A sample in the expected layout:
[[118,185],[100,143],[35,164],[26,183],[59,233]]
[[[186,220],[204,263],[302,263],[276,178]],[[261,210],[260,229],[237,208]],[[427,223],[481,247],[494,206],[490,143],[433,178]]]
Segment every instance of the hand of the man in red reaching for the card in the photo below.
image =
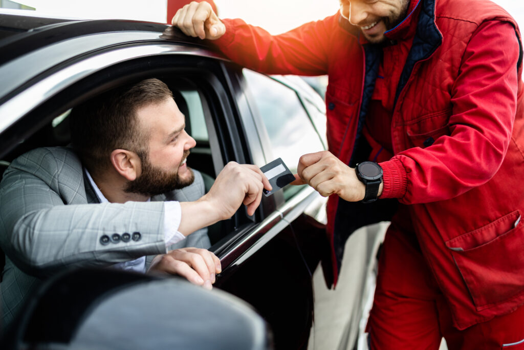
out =
[[[357,178],[354,168],[342,163],[331,152],[322,151],[300,157],[292,185],[309,184],[323,197],[339,195],[347,201],[364,199],[366,188]],[[380,184],[379,194],[382,191]]]

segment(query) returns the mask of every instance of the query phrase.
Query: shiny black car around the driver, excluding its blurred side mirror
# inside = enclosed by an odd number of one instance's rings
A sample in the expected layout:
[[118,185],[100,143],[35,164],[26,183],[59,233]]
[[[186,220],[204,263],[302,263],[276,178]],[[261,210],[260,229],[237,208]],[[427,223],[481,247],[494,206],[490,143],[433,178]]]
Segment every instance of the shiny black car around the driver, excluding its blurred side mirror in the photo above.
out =
[[[0,13],[0,77],[0,174],[28,150],[69,144],[75,105],[150,77],[182,97],[196,140],[188,164],[211,181],[229,161],[262,166],[281,157],[296,172],[300,155],[327,147],[323,100],[303,80],[249,71],[163,24]],[[315,293],[327,290],[313,275],[322,274],[321,260],[331,263],[325,218],[325,198],[287,186],[263,198],[255,215],[241,208],[209,229],[223,267],[215,287],[253,305],[277,349],[325,348],[325,326],[313,324]],[[343,272],[357,293],[341,300],[343,329],[329,335],[340,348],[357,344],[379,237],[348,242]]]

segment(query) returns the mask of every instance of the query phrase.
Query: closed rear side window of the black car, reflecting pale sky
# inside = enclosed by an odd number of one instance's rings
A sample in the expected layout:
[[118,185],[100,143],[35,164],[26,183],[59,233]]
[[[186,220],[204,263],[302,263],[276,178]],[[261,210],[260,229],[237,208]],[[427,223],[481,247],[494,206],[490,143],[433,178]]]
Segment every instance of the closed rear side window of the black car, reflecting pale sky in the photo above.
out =
[[[300,156],[325,149],[308,113],[294,90],[259,73],[243,73],[269,137],[272,155],[267,161],[280,157],[296,173]],[[285,187],[285,199],[299,189]]]

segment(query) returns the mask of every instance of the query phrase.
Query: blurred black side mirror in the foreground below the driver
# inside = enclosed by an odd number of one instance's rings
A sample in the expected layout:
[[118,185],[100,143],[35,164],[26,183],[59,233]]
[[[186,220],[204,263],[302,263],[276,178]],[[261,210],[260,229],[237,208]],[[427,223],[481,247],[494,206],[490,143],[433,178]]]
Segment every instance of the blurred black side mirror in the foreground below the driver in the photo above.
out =
[[3,349],[271,348],[248,304],[180,278],[76,270],[43,282],[28,300]]

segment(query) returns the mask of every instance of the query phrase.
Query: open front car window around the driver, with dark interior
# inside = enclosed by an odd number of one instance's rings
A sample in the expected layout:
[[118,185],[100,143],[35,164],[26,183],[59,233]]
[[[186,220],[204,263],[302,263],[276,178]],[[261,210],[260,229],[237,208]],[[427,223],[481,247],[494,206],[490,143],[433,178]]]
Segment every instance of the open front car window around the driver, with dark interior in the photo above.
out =
[[[200,61],[198,69],[193,68],[196,61]],[[94,72],[83,81],[41,101],[39,107],[15,125],[26,135],[18,138],[16,144],[10,144],[10,149],[4,152],[0,160],[6,165],[0,170],[3,171],[17,156],[37,147],[69,145],[68,115],[75,106],[108,89],[153,77],[168,85],[185,115],[187,131],[196,141],[188,157],[188,165],[202,173],[206,190],[228,161],[249,163],[239,141],[244,137],[239,134],[242,128],[235,124],[231,100],[220,79],[220,62],[179,56],[171,61],[154,63],[157,62],[134,60],[133,63],[119,64],[121,69],[114,68],[111,74]],[[31,125],[32,129],[28,130],[27,125]],[[223,239],[234,239],[239,234],[238,228],[253,224],[254,220],[254,217],[247,216],[242,206],[231,219],[209,228],[211,245]]]

